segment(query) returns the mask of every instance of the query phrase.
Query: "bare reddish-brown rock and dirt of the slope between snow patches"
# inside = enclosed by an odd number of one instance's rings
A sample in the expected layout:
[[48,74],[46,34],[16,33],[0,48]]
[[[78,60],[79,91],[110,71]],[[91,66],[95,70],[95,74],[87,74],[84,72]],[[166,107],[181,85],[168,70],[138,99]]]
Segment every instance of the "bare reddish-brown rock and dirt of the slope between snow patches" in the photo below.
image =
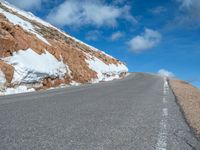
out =
[[[65,75],[62,79],[45,78],[42,82],[44,87],[58,86],[62,83],[68,84],[70,81],[86,83],[97,77],[97,73],[89,68],[89,64],[85,61],[86,54],[94,56],[102,60],[105,64],[121,64],[119,60],[105,55],[100,51],[92,50],[91,47],[77,42],[70,36],[66,36],[56,28],[45,26],[44,24],[30,20],[29,18],[18,14],[17,12],[7,8],[0,2],[0,8],[14,14],[21,19],[30,22],[35,31],[43,36],[49,44],[39,39],[35,34],[24,30],[20,25],[14,25],[9,22],[4,14],[0,13],[0,57],[12,56],[14,52],[19,50],[27,50],[31,48],[38,54],[45,53],[45,50],[51,53],[69,66],[70,75]],[[7,82],[12,81],[14,68],[5,62],[0,62],[0,69],[5,73]]]

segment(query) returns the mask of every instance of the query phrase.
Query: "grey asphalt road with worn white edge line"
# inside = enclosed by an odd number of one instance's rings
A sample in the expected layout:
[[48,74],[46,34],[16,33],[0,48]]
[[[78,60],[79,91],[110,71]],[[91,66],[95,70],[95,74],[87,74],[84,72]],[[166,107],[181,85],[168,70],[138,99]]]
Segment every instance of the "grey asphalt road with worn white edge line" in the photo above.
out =
[[200,150],[162,77],[0,97],[0,150]]

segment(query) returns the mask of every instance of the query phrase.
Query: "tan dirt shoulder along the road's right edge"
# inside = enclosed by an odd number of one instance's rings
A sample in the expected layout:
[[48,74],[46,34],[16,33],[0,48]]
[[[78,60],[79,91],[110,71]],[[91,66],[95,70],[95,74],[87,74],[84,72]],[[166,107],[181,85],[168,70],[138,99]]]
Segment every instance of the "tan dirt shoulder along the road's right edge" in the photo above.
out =
[[170,79],[169,83],[188,123],[200,137],[200,90],[180,80]]

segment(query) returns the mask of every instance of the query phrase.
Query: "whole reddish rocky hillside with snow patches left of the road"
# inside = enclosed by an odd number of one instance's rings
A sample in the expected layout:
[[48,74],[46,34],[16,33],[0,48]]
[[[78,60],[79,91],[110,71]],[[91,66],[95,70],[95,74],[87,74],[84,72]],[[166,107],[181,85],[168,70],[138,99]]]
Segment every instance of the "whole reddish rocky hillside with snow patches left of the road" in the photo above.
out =
[[[0,2],[0,87],[34,89],[107,81],[127,67],[49,23]],[[24,89],[24,88],[23,88]]]

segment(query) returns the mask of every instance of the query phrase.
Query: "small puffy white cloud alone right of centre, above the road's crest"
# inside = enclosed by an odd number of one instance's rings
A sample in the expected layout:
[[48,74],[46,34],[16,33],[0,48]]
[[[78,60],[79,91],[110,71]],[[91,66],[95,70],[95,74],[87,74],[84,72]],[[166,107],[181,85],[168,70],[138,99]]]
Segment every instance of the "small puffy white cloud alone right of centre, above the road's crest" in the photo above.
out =
[[128,42],[128,45],[130,50],[134,52],[142,52],[155,47],[159,44],[161,38],[162,35],[158,31],[146,28],[143,34],[134,37]]

